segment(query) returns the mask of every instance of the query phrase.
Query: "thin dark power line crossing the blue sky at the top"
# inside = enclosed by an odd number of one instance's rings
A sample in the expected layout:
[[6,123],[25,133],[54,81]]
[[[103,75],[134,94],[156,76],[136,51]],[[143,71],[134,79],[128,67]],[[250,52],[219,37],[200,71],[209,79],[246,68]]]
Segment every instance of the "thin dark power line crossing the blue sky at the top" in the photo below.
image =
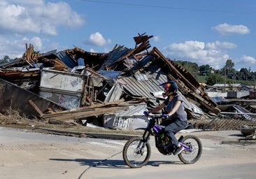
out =
[[213,12],[213,13],[239,13],[239,14],[251,14],[244,12],[235,12],[235,11],[225,11],[225,10],[205,10],[205,9],[197,9],[197,8],[178,8],[178,7],[170,7],[170,6],[150,6],[145,4],[137,4],[137,3],[118,3],[118,2],[109,2],[109,1],[94,1],[94,0],[80,0],[80,1],[88,1],[94,3],[107,3],[107,4],[116,4],[122,6],[138,6],[145,8],[165,8],[165,9],[175,9],[175,10],[193,10],[193,11],[203,11],[203,12]]

